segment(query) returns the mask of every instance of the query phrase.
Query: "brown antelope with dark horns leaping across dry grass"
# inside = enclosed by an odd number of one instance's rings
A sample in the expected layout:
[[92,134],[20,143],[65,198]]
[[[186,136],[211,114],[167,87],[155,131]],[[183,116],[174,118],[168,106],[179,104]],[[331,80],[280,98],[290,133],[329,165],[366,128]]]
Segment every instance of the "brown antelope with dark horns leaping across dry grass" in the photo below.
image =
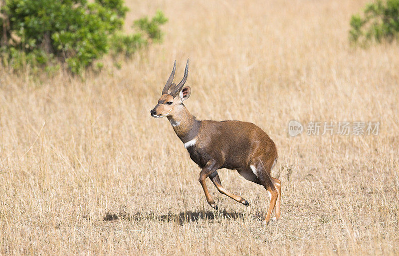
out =
[[189,73],[189,60],[184,77],[178,85],[172,83],[175,71],[176,60],[161,98],[150,113],[154,118],[168,118],[176,135],[189,151],[190,158],[202,169],[199,181],[207,203],[217,210],[205,183],[209,177],[220,193],[245,206],[249,205],[244,198],[228,192],[221,185],[217,173],[221,168],[237,170],[245,179],[263,186],[269,194],[269,207],[262,225],[270,222],[275,206],[276,216],[272,220],[277,221],[280,218],[281,182],[270,175],[277,161],[277,149],[273,140],[252,123],[197,120],[183,104],[191,94],[190,86],[183,87]]

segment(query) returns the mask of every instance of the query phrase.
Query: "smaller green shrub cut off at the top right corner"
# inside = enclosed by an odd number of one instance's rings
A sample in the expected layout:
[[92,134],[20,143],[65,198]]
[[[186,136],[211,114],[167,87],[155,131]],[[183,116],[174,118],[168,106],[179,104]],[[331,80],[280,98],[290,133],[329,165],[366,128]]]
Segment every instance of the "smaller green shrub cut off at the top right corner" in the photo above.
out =
[[364,16],[351,18],[350,40],[367,44],[371,40],[392,42],[399,37],[399,0],[377,0],[366,5]]

